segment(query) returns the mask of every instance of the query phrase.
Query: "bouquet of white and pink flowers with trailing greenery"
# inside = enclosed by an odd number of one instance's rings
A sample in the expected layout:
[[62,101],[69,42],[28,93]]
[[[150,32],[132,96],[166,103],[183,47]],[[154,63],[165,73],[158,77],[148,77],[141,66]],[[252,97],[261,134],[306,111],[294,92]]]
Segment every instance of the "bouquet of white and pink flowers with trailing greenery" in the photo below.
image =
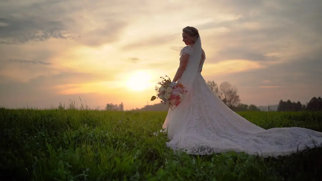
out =
[[[166,76],[168,77],[168,76]],[[160,87],[156,86],[156,96],[152,96],[151,100],[155,100],[156,98],[161,99],[161,103],[166,104],[170,107],[171,110],[179,105],[179,103],[183,100],[186,94],[185,87],[181,83],[176,83],[163,77],[160,77],[163,81],[160,81]]]

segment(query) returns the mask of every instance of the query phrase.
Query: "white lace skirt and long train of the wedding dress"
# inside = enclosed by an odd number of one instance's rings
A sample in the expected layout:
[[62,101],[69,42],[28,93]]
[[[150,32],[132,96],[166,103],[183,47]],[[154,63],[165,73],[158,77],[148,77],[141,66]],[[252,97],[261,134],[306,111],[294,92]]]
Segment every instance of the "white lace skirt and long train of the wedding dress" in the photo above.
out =
[[195,155],[235,151],[278,157],[322,143],[322,133],[311,129],[266,130],[249,122],[228,108],[209,88],[201,74],[197,74],[194,86],[185,99],[188,100],[185,102],[186,109],[189,109],[187,118],[177,120],[168,117],[168,134],[172,138],[166,145],[174,150]]

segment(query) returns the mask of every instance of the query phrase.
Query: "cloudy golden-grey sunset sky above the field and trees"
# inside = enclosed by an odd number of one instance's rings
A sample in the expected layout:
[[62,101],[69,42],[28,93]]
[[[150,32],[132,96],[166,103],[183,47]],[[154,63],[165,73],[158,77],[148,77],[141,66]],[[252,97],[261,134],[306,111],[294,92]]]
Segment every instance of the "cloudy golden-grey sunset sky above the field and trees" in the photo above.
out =
[[321,0],[2,0],[0,106],[141,108],[199,30],[206,81],[242,103],[322,96]]

